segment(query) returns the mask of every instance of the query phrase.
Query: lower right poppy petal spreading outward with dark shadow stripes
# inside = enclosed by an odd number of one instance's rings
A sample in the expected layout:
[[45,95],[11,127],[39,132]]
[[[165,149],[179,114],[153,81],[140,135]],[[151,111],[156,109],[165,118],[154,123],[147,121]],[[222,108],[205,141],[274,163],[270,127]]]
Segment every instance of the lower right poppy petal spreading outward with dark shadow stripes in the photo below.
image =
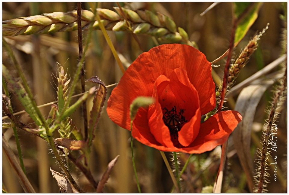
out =
[[227,141],[241,120],[241,114],[233,110],[214,114],[204,123],[201,123],[199,134],[194,142],[180,151],[200,154],[213,150],[216,146]]

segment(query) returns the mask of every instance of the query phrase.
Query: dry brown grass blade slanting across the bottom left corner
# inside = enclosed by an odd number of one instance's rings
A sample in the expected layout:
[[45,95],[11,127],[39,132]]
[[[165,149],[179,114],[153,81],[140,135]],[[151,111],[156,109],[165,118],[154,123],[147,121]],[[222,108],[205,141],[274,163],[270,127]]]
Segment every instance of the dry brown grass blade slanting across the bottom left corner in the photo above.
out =
[[23,188],[25,193],[36,193],[33,189],[32,185],[30,184],[29,180],[27,179],[26,175],[24,174],[23,170],[21,169],[20,164],[18,163],[17,157],[15,156],[14,152],[10,148],[7,140],[5,139],[4,135],[2,135],[2,148],[5,152],[7,159],[14,170],[15,175],[17,175],[17,179]]

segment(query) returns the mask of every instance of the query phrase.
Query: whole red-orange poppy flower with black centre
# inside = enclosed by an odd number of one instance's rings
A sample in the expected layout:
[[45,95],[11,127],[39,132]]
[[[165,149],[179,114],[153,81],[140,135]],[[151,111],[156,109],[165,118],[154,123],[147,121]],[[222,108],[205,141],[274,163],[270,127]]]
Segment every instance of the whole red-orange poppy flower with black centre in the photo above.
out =
[[138,96],[156,101],[138,110],[132,136],[161,151],[210,151],[242,118],[237,111],[222,111],[200,123],[201,115],[215,108],[215,83],[211,63],[188,45],[164,44],[139,55],[108,99],[110,119],[130,129],[129,106]]

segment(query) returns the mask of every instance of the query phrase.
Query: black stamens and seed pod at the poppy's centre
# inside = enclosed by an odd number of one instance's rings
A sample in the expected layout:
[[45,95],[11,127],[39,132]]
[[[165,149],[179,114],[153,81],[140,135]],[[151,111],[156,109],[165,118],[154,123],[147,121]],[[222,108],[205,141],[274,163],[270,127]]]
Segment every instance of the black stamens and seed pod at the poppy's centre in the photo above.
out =
[[179,114],[177,114],[176,106],[172,107],[170,111],[167,108],[163,108],[163,110],[165,110],[163,113],[163,122],[169,127],[169,133],[177,134],[177,132],[181,130],[181,125],[188,121],[182,115],[184,114],[184,110],[180,109]]

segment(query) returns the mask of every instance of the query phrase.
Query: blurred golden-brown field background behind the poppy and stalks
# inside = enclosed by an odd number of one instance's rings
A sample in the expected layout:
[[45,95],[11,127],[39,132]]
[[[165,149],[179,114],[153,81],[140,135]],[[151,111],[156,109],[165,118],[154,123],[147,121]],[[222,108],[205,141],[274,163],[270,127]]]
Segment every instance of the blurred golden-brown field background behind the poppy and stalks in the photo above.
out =
[[[141,10],[150,10],[156,13],[159,11],[171,17],[177,27],[182,27],[189,35],[190,41],[195,41],[199,50],[203,52],[208,61],[221,56],[229,45],[229,37],[232,27],[232,3],[219,3],[213,9],[208,11],[204,16],[200,14],[206,10],[212,3],[209,2],[169,2],[169,3],[129,3],[133,7]],[[121,3],[125,6],[125,3]],[[113,10],[113,6],[117,6],[113,2],[99,3],[99,8],[107,8]],[[89,10],[87,3],[82,3],[84,9]],[[286,5],[287,7],[287,5]],[[43,13],[52,13],[57,11],[76,10],[76,2],[3,2],[2,3],[2,21],[17,17],[28,17],[32,15],[40,15]],[[250,61],[241,71],[237,78],[236,84],[244,81],[270,62],[277,59],[282,52],[281,41],[284,24],[280,19],[280,15],[284,14],[282,3],[265,2],[259,11],[259,17],[248,31],[247,35],[235,49],[235,56],[238,56],[241,49],[245,47],[250,38],[256,33],[262,31],[267,23],[270,23],[269,29],[262,36],[258,49],[251,56]],[[287,25],[287,24],[286,24]],[[142,53],[138,44],[128,32],[112,32],[108,31],[117,52],[123,57],[123,64],[128,67],[139,54]],[[84,42],[87,32],[83,31]],[[152,38],[148,35],[137,35],[141,46],[145,51],[155,47]],[[73,77],[76,65],[78,63],[78,41],[77,31],[73,32],[57,32],[52,35],[28,35],[6,37],[6,41],[13,47],[15,56],[23,68],[24,74],[30,88],[33,91],[37,105],[42,105],[56,100],[56,84],[57,69],[59,65],[64,67],[64,71],[70,77]],[[2,63],[9,69],[11,74],[18,78],[15,67],[12,66],[11,60],[5,50],[2,50]],[[217,62],[213,69],[220,78],[223,77],[223,69],[225,60]],[[106,85],[118,83],[122,73],[115,62],[115,59],[109,49],[101,31],[92,33],[91,43],[85,58],[85,78],[98,76]],[[277,70],[277,69],[276,69]],[[275,71],[276,71],[275,70]],[[86,83],[86,90],[93,84]],[[109,97],[113,87],[107,89]],[[264,111],[272,100],[272,88],[269,88],[261,98],[254,118],[253,134],[251,140],[251,157],[256,160],[256,146],[260,142],[262,136],[263,124],[268,114]],[[4,93],[4,92],[3,92]],[[80,81],[74,94],[81,93]],[[12,95],[12,94],[11,94]],[[236,101],[238,94],[234,96]],[[74,99],[73,101],[76,101]],[[12,95],[12,107],[14,112],[22,111],[24,108],[19,101]],[[234,105],[234,102],[233,104]],[[226,104],[229,109],[234,109],[231,104]],[[92,99],[87,102],[88,111],[92,106]],[[106,103],[105,103],[106,106]],[[48,115],[50,106],[41,108],[44,116]],[[278,174],[280,174],[287,183],[287,99],[284,103],[284,109],[281,111],[278,123]],[[2,114],[4,116],[4,114]],[[83,130],[82,110],[78,109],[73,115],[73,126]],[[30,124],[32,120],[28,114],[19,115],[19,120],[23,123]],[[12,129],[3,129],[2,133],[8,140],[11,148],[17,155],[17,148]],[[23,154],[24,165],[27,177],[34,189],[38,193],[59,193],[59,187],[52,178],[51,169],[61,172],[60,167],[55,163],[56,160],[48,144],[39,137],[32,136],[18,130],[20,145]],[[54,133],[54,137],[59,135]],[[137,185],[132,167],[132,157],[130,151],[130,132],[120,128],[114,124],[107,116],[106,109],[100,117],[97,127],[97,133],[91,148],[90,169],[95,181],[98,182],[101,175],[107,168],[107,164],[113,160],[118,154],[120,155],[116,166],[105,184],[104,193],[137,193]],[[259,140],[258,140],[259,139]],[[135,164],[138,172],[138,178],[143,193],[168,193],[173,184],[169,177],[169,172],[163,162],[160,152],[154,148],[142,145],[134,140]],[[213,186],[216,174],[219,168],[220,148],[215,153],[206,152],[204,154],[194,154],[190,160],[189,166],[182,176],[182,189],[186,193],[200,193],[203,187]],[[224,173],[222,192],[249,192],[246,176],[242,170],[241,163],[235,152],[235,148],[229,148],[227,167]],[[231,152],[231,153],[230,153]],[[14,175],[5,154],[2,154],[2,184],[9,193],[22,193],[17,176]],[[171,154],[166,154],[171,158]],[[181,168],[188,159],[188,154],[180,154]],[[208,160],[209,159],[209,160]],[[211,161],[210,161],[211,159]],[[213,159],[213,160],[212,160]],[[207,163],[207,164],[206,164]],[[79,186],[85,192],[94,192],[89,181],[76,169],[73,163],[69,163],[69,169]],[[255,166],[255,165],[254,165]],[[256,166],[254,167],[256,168]],[[280,180],[274,181],[272,169],[268,171],[271,177],[268,184],[269,193],[285,193],[287,186]]]

